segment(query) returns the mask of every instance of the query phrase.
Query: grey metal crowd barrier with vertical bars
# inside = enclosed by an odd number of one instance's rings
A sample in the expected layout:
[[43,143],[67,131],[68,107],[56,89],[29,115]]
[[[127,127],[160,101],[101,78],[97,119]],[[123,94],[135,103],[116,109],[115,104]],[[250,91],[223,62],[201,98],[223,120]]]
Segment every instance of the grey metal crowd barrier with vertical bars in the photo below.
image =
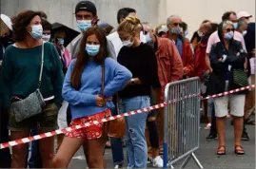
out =
[[184,160],[181,168],[193,158],[198,167],[202,164],[194,155],[200,141],[200,79],[190,78],[167,84],[165,90],[164,168]]

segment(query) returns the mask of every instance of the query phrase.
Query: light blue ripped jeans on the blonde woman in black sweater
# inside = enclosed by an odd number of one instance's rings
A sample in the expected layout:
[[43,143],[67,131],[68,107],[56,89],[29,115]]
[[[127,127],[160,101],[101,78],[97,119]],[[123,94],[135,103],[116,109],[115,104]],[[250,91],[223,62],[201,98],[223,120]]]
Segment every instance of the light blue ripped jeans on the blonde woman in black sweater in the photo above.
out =
[[[148,96],[137,96],[130,99],[122,99],[122,112],[148,107]],[[127,132],[126,143],[128,150],[128,168],[147,168],[148,147],[145,138],[145,127],[148,113],[140,113],[126,117]]]

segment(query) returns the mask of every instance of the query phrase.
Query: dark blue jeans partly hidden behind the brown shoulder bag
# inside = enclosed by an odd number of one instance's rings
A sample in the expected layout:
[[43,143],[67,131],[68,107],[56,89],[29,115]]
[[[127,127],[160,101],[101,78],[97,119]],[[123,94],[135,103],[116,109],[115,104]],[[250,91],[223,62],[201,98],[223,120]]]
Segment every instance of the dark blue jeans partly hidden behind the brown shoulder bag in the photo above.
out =
[[[116,98],[113,97],[113,103],[116,103]],[[115,104],[115,108],[111,110],[112,116],[118,114]],[[122,139],[117,138],[109,138],[111,143],[111,151],[112,158],[115,165],[123,165],[124,164],[124,152],[123,152],[123,142]]]

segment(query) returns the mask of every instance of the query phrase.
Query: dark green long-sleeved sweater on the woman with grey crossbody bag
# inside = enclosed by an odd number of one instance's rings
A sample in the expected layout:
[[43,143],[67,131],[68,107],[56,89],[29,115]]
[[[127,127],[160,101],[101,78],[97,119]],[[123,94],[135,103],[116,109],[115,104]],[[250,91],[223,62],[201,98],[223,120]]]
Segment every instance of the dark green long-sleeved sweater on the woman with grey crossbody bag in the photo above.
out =
[[[5,107],[10,107],[11,96],[25,99],[38,87],[42,59],[42,46],[6,49],[2,65],[2,91]],[[43,97],[54,96],[54,103],[62,105],[62,84],[64,75],[56,48],[44,44],[44,68],[40,91]]]

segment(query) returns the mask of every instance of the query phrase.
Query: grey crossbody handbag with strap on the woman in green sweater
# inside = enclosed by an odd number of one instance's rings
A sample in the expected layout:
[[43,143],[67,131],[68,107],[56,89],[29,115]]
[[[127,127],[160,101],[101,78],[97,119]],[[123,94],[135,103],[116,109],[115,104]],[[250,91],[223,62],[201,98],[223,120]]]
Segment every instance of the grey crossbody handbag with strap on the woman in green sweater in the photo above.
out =
[[44,67],[44,43],[42,45],[41,68],[40,68],[38,88],[24,100],[11,103],[10,108],[14,113],[16,122],[22,122],[32,116],[36,116],[42,113],[43,106],[46,105],[44,98],[40,92],[43,67]]

